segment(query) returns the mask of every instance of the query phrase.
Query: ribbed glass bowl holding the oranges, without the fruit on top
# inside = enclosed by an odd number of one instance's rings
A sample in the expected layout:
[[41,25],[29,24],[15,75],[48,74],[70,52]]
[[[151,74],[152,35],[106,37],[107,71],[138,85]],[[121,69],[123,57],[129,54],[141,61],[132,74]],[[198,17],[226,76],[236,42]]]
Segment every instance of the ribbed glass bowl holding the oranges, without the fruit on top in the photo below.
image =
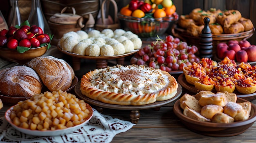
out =
[[121,20],[122,27],[125,27],[142,38],[160,36],[166,32],[171,23],[178,20],[178,18],[174,17],[136,18],[121,15],[120,13],[117,16]]

